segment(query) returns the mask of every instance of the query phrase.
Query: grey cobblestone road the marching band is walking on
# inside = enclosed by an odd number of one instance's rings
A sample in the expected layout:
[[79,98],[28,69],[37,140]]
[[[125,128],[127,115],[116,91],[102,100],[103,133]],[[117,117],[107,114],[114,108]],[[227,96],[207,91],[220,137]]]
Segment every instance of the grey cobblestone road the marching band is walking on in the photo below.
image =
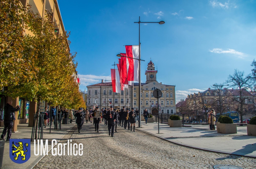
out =
[[[100,124],[99,133],[92,123],[67,134],[63,142],[83,143],[82,156],[52,156],[49,153],[35,168],[213,168],[217,164],[255,169],[256,159],[219,154],[178,146],[142,131],[118,127],[114,137]],[[51,151],[50,151],[51,152]],[[67,152],[67,149],[66,149]]]

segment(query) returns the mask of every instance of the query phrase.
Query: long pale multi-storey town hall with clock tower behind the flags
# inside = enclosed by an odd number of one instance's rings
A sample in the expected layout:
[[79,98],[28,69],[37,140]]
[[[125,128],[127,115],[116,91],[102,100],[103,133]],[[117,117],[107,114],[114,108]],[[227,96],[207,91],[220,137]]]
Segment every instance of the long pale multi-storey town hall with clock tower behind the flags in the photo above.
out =
[[[159,113],[176,113],[175,107],[175,86],[162,84],[156,79],[157,70],[155,65],[150,61],[145,71],[146,83],[141,83],[141,112],[145,109],[149,113],[157,113],[157,104],[159,105]],[[111,82],[104,82],[92,84],[87,86],[87,108],[93,108],[94,105],[99,107],[108,107],[109,102],[114,105],[115,108],[121,108],[122,106],[138,108],[139,98],[139,85],[134,83],[133,86],[129,86],[129,89],[121,91],[121,93],[114,93],[112,90]],[[158,88],[162,91],[162,97],[157,103],[157,99],[153,96],[153,91]],[[132,105],[131,105],[132,104]]]

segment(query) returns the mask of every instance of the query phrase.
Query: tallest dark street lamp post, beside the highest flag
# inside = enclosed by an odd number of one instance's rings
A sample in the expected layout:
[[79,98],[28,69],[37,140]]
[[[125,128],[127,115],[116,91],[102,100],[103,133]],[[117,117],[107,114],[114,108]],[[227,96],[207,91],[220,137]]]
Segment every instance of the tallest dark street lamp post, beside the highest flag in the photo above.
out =
[[[138,23],[139,24],[139,127],[141,127],[141,43],[140,43],[140,23],[159,23],[160,25],[164,24],[164,21],[160,21],[160,22],[141,22],[140,20],[141,17],[139,17],[139,21],[138,22],[134,22],[134,23]],[[158,103],[157,103],[158,104]]]

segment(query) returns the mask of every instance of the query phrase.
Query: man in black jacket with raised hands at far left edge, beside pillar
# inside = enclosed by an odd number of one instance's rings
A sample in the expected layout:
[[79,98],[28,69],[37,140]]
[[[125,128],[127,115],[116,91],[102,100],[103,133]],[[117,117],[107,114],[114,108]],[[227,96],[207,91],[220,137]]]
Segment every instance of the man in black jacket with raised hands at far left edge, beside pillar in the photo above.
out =
[[7,104],[4,106],[4,130],[1,135],[1,139],[4,139],[4,136],[6,135],[6,131],[8,128],[7,138],[6,141],[10,141],[11,135],[12,135],[12,129],[13,129],[13,120],[15,120],[15,112],[20,110],[19,106],[16,106],[15,108],[12,106],[13,101],[9,100]]

